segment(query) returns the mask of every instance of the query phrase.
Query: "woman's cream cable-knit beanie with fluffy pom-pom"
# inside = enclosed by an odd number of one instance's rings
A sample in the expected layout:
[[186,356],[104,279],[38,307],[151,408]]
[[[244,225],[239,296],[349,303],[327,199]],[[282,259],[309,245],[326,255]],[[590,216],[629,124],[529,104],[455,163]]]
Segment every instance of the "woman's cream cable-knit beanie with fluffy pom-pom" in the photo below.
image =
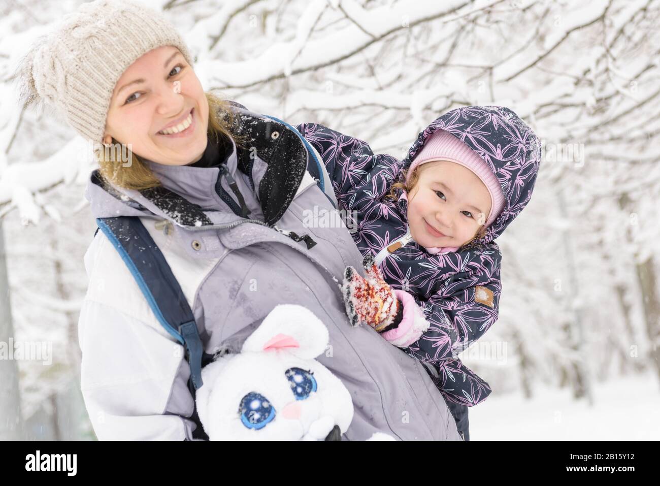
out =
[[161,46],[175,46],[193,64],[176,28],[161,13],[125,0],[84,3],[22,59],[17,73],[22,102],[46,102],[82,137],[102,143],[119,77]]

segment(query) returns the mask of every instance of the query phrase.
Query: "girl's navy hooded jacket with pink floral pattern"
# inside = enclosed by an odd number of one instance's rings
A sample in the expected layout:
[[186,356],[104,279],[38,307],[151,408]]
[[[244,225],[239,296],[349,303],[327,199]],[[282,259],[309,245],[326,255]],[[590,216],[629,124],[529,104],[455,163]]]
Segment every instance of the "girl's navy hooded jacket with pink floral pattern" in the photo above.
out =
[[447,112],[419,134],[403,160],[375,155],[364,141],[317,123],[296,128],[323,158],[339,209],[356,219],[352,236],[364,256],[376,257],[407,233],[405,193],[397,188],[396,200],[385,195],[394,182],[403,182],[401,170],[410,166],[436,130],[461,139],[496,174],[506,203],[483,238],[457,252],[436,255],[411,241],[388,252],[380,263],[387,283],[413,295],[429,322],[418,341],[403,350],[426,365],[446,399],[467,406],[486,399],[490,386],[457,355],[498,318],[502,254],[493,240],[531,197],[541,160],[538,137],[512,110],[500,106]]

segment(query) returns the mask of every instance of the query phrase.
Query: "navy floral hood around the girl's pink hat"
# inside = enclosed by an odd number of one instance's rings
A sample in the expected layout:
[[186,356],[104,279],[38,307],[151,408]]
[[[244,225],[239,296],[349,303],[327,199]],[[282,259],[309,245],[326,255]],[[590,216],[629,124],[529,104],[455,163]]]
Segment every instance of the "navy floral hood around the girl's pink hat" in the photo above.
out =
[[[426,140],[438,130],[446,130],[467,144],[498,178],[505,203],[500,215],[486,229],[481,244],[491,242],[504,232],[525,208],[532,195],[541,162],[541,141],[534,131],[504,106],[463,106],[436,118],[420,132],[403,159],[401,170],[410,167]],[[403,174],[399,174],[403,180]],[[399,190],[399,206],[407,201]]]

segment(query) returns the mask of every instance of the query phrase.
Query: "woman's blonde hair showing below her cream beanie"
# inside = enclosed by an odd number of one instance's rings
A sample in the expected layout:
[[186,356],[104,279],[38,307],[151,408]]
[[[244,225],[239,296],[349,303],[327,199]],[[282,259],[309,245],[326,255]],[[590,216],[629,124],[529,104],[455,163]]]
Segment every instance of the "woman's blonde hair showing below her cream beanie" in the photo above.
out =
[[[212,92],[206,92],[205,95],[209,102],[209,128],[207,129],[209,141],[231,138],[238,146],[244,137],[238,135],[238,123],[229,103]],[[100,176],[104,184],[110,183],[112,186],[137,191],[161,185],[160,180],[138,155],[127,151],[128,160],[121,158],[121,147],[121,143],[113,138],[110,150],[96,153]]]

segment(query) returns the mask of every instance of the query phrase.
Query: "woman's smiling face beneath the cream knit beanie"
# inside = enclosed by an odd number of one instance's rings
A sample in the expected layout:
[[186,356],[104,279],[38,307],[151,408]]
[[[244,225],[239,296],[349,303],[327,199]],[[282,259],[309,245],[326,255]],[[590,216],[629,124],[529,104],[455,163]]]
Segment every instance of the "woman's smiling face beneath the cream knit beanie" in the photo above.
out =
[[[162,46],[139,57],[117,81],[104,142],[114,137],[158,164],[186,165],[203,155],[208,125],[209,102],[195,71],[178,48]],[[161,133],[177,126],[178,133]]]

